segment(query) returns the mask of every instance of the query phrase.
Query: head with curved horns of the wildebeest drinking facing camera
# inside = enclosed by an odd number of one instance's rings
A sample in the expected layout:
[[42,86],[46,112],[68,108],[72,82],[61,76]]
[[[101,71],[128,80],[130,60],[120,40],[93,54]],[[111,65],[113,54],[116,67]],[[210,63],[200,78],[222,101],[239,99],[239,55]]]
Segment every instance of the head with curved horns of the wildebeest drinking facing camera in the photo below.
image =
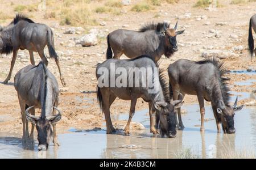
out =
[[[32,106],[34,107],[34,106]],[[28,113],[28,111],[32,108],[29,107],[26,109],[26,118],[28,121],[32,122],[36,126],[36,130],[38,131],[38,150],[47,150],[49,146],[49,142],[52,138],[52,124],[56,124],[56,122],[61,119],[61,112],[56,107],[53,107],[59,113],[54,116],[49,117],[40,117],[34,116]]]

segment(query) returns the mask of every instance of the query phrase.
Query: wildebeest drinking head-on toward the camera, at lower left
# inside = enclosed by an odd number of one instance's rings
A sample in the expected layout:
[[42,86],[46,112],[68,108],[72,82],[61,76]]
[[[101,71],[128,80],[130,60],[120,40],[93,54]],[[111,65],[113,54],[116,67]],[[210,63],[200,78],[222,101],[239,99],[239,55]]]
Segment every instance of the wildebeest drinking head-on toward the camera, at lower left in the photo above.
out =
[[[53,143],[59,145],[56,136],[56,122],[61,119],[57,109],[59,103],[59,86],[55,76],[43,62],[37,66],[28,65],[19,70],[14,78],[14,87],[18,92],[19,105],[22,111],[22,143],[27,148],[34,148],[34,126],[38,131],[38,150],[46,150],[52,137]],[[35,116],[35,108],[41,108],[41,115]],[[52,111],[53,108],[53,111]],[[59,113],[56,114],[56,111]],[[28,121],[32,129],[28,133]]]

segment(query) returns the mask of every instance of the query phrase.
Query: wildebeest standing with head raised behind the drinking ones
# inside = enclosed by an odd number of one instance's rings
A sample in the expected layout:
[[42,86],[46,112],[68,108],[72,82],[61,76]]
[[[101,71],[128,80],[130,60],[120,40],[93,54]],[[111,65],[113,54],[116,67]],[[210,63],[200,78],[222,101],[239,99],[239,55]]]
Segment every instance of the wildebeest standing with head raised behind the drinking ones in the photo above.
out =
[[117,29],[107,36],[108,49],[106,58],[120,58],[125,54],[129,58],[135,58],[144,54],[151,56],[157,62],[164,54],[170,58],[177,51],[176,35],[183,31],[176,31],[170,24],[151,23],[144,25],[138,32],[126,29]]

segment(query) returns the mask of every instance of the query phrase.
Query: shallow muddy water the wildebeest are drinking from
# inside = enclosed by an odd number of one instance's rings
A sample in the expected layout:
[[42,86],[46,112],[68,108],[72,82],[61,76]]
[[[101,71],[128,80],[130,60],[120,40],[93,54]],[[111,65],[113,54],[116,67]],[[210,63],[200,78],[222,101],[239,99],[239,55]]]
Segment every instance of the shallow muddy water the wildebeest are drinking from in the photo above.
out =
[[[159,138],[150,134],[147,109],[136,112],[134,122],[141,122],[146,130],[131,132],[129,137],[121,134],[106,135],[98,131],[76,131],[59,134],[61,146],[49,146],[47,151],[23,150],[21,139],[0,133],[0,158],[176,158],[181,148],[191,148],[201,158],[220,158],[224,152],[256,150],[255,107],[245,107],[235,116],[236,134],[217,134],[210,106],[206,107],[205,133],[200,133],[198,105],[185,105],[183,114],[185,129],[176,138]],[[113,120],[127,120],[128,114],[119,114]],[[138,148],[126,148],[135,145]]]

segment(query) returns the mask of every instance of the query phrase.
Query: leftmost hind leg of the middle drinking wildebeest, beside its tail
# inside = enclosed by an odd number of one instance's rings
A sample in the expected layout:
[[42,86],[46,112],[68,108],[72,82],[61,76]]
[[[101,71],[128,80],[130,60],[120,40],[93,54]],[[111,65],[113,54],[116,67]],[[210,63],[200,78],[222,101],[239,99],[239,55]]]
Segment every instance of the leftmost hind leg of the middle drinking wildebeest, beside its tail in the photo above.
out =
[[110,95],[110,92],[108,90],[105,90],[101,88],[101,93],[102,93],[102,99],[103,99],[103,104],[104,104],[104,114],[105,114],[105,120],[106,120],[106,129],[107,129],[107,134],[112,134],[115,132],[115,128],[112,124],[111,117],[110,117],[110,103],[113,103],[113,97]]

